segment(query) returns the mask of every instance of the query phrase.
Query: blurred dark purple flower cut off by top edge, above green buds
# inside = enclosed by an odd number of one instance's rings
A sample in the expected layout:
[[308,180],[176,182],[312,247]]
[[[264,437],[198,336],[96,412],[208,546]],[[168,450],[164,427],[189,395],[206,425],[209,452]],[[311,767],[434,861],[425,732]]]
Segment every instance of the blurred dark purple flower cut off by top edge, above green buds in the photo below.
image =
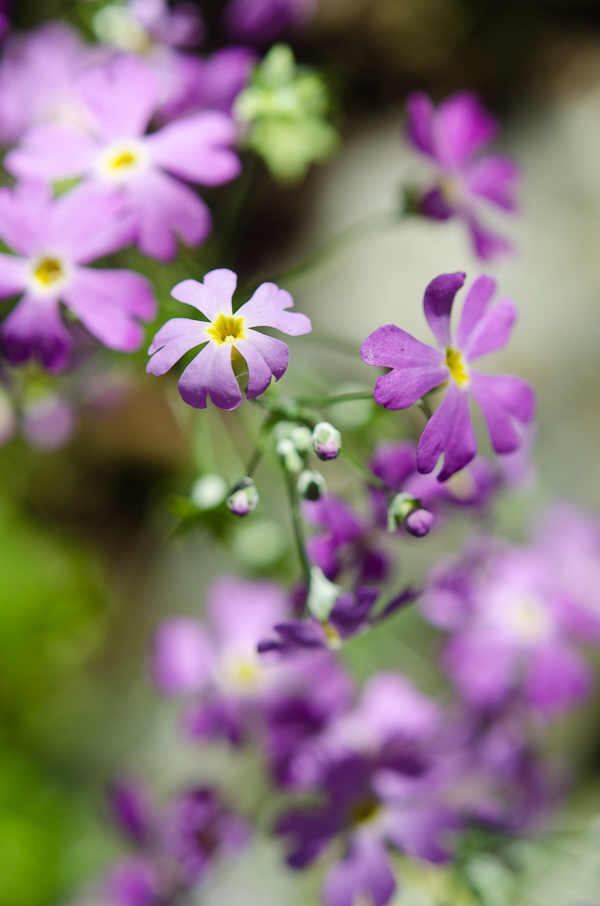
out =
[[307,22],[315,5],[315,0],[230,0],[225,22],[234,38],[267,44]]

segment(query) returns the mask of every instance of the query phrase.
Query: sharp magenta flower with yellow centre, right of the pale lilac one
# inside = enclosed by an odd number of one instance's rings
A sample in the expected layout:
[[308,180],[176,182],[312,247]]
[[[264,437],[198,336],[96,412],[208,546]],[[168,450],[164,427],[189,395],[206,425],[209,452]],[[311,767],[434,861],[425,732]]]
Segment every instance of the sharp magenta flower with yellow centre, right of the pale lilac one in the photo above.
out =
[[489,307],[496,289],[491,277],[479,277],[465,298],[458,329],[450,331],[450,314],[465,275],[442,274],[425,290],[425,317],[440,348],[427,346],[393,324],[379,327],[364,341],[367,365],[392,370],[375,382],[375,402],[386,409],[407,409],[435,387],[447,384],[441,406],[429,420],[417,448],[419,472],[432,472],[444,454],[440,481],[471,462],[477,439],[469,412],[469,395],[481,407],[496,453],[511,453],[521,444],[515,420],[526,424],[534,415],[530,385],[512,374],[488,375],[472,362],[506,345],[516,318],[514,303],[503,297]]

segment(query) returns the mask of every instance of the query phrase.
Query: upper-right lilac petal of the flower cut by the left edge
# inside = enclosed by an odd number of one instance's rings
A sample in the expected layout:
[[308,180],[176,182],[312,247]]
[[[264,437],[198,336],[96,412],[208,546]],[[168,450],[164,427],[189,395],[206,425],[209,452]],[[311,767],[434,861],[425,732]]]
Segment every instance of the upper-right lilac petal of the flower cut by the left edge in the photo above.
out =
[[64,248],[71,261],[87,264],[129,245],[135,221],[118,192],[83,183],[54,202],[48,240]]

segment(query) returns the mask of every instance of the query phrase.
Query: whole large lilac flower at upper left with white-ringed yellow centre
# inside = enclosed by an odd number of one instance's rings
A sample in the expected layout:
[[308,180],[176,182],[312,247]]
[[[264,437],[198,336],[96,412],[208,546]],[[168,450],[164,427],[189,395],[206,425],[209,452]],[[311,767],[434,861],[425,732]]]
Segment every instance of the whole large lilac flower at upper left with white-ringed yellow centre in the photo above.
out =
[[84,177],[107,195],[118,194],[134,218],[144,254],[161,261],[177,252],[177,237],[197,245],[210,232],[206,204],[188,182],[217,186],[236,177],[240,162],[230,145],[233,120],[204,111],[146,135],[160,103],[159,80],[136,57],[119,57],[85,73],[78,83],[93,123],[89,132],[48,124],[33,127],[8,153],[18,177]]

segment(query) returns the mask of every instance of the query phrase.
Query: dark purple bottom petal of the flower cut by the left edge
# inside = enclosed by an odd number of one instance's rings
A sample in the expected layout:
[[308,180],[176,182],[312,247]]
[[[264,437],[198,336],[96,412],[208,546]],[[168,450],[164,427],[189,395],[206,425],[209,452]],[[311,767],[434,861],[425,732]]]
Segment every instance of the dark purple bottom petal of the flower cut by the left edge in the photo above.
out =
[[58,300],[23,296],[2,324],[2,345],[13,365],[38,359],[48,371],[66,368],[73,340],[61,320]]

